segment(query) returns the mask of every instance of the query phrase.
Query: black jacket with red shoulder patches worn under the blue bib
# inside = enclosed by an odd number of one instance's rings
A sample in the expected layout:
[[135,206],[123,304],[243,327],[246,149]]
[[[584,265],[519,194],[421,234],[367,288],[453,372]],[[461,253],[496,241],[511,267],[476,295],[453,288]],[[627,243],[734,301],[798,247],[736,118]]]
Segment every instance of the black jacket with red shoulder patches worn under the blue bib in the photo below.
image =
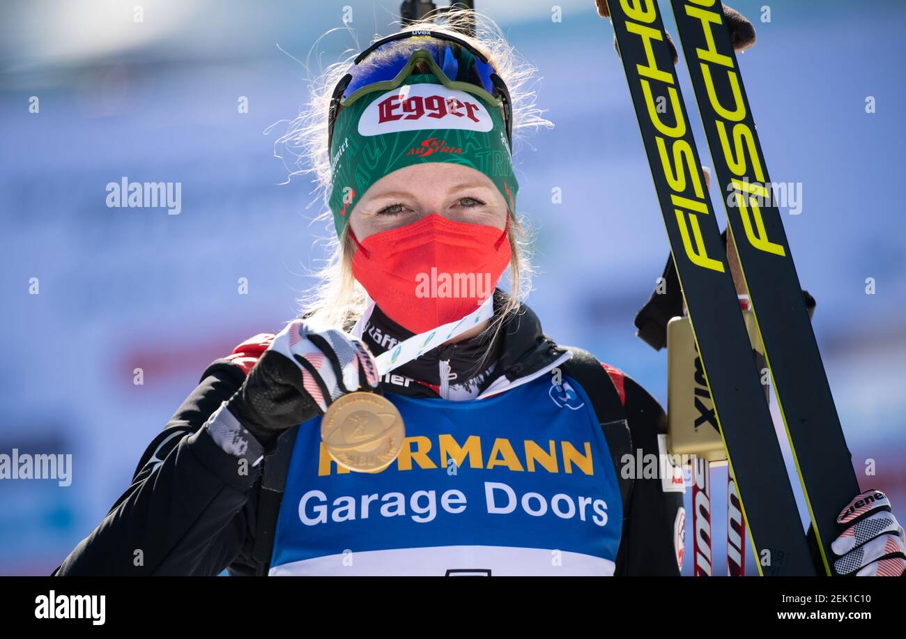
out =
[[[363,339],[371,343],[376,354],[383,350],[367,334]],[[499,359],[494,374],[510,380],[549,367],[566,351],[542,332],[535,314],[525,306],[504,324],[499,342],[495,346]],[[262,466],[251,467],[247,475],[237,474],[236,457],[222,450],[204,425],[221,402],[236,392],[267,344],[268,335],[256,335],[207,367],[196,389],[150,442],[129,488],[97,528],[63,559],[54,575],[217,575],[224,569],[231,575],[260,572],[253,549],[255,531],[261,529],[260,523],[266,523],[258,521],[263,509]],[[666,432],[666,415],[658,402],[616,369],[608,367],[607,373],[594,376],[586,366],[581,373],[573,364],[594,360],[578,349],[573,354],[575,362],[564,364],[564,373],[573,374],[583,384],[599,421],[603,424],[625,417],[623,432],[617,433],[622,441],[613,439],[616,431],[605,430],[615,463],[623,453],[635,455],[637,450],[641,455],[657,455],[657,436]],[[428,359],[432,356],[437,357],[437,353],[426,354]],[[597,363],[593,366],[597,373],[604,370]],[[437,396],[424,383],[401,385],[388,380],[381,385],[384,392]],[[611,397],[619,397],[622,406],[613,409],[612,403],[605,401]],[[602,415],[602,411],[622,411],[624,415]],[[265,459],[265,465],[270,459]],[[617,475],[621,475],[619,467]],[[656,478],[622,480],[621,488],[623,535],[615,574],[679,575],[675,527],[681,517],[682,493],[664,492]],[[264,510],[265,516],[276,517],[273,508]]]

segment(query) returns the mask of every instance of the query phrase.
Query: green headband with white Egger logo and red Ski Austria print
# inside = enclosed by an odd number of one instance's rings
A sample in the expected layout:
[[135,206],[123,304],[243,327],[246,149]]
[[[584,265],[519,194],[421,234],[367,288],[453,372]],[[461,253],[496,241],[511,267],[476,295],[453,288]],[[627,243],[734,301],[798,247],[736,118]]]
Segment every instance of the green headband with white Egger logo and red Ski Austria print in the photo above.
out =
[[455,162],[487,175],[515,212],[506,124],[496,104],[449,89],[433,74],[362,96],[337,116],[331,145],[331,196],[337,235],[372,184],[425,162]]

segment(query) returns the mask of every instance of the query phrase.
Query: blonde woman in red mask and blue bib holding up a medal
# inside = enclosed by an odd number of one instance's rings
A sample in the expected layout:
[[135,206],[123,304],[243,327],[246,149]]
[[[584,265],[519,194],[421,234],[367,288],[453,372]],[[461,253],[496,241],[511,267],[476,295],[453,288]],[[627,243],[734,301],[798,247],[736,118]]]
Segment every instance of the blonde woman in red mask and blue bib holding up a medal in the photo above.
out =
[[660,405],[520,301],[530,70],[456,23],[325,75],[287,136],[336,230],[321,286],[207,368],[56,574],[679,574],[681,487],[622,471]]

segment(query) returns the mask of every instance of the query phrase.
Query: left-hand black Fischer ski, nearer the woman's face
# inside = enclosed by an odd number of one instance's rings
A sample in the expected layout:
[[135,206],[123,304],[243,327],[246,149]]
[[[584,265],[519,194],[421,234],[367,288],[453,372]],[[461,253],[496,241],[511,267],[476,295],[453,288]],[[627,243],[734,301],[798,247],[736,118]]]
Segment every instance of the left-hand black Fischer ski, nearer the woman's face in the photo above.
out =
[[658,5],[655,0],[610,0],[609,5],[759,572],[814,575]]

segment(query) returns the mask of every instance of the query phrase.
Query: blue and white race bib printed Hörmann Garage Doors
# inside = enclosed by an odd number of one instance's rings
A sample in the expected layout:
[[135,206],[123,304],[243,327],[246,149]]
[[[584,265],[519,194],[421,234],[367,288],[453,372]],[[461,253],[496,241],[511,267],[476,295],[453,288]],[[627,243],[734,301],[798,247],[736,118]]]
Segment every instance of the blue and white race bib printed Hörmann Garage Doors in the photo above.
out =
[[338,467],[321,418],[304,422],[270,574],[612,575],[620,487],[591,402],[566,380],[466,402],[389,393],[407,436],[377,473]]

